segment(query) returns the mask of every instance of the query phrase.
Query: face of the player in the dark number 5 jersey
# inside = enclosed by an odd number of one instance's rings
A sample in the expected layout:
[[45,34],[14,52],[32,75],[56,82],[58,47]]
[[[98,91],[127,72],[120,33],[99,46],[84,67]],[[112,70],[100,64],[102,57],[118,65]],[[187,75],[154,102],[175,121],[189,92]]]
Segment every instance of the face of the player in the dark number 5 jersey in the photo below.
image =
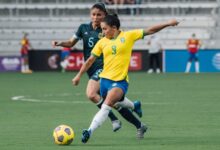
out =
[[97,8],[93,8],[90,11],[90,17],[92,20],[92,24],[95,26],[100,26],[101,21],[104,19],[105,17],[105,13],[103,11],[101,11],[100,9]]

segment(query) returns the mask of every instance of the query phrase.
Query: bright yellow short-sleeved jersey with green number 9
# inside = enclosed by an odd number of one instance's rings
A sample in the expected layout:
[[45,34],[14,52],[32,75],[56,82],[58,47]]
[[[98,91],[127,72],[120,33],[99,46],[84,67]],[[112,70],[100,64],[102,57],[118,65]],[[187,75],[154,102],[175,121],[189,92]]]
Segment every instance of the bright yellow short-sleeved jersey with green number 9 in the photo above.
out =
[[96,57],[103,54],[104,67],[99,76],[113,81],[128,81],[132,47],[136,40],[143,37],[144,31],[138,29],[127,32],[121,31],[115,39],[104,37],[99,40],[91,52]]

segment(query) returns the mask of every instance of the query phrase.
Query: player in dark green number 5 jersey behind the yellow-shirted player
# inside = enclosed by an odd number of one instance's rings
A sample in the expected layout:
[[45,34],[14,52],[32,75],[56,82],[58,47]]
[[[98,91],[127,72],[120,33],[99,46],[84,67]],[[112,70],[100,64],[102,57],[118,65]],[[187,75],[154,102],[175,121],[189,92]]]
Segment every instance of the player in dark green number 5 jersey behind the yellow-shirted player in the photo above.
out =
[[[72,47],[80,39],[83,40],[83,53],[84,59],[87,60],[91,55],[91,50],[94,48],[95,44],[102,38],[102,30],[100,27],[101,21],[107,15],[105,5],[102,3],[94,4],[90,11],[91,23],[81,24],[78,28],[78,31],[73,35],[73,37],[68,41],[52,41],[53,46],[62,46],[62,47]],[[99,95],[99,74],[103,69],[103,57],[99,57],[87,70],[89,76],[89,81],[86,89],[87,97],[94,102],[99,108],[103,103],[102,97]],[[124,98],[128,100],[126,97]],[[140,106],[140,102],[136,101],[136,104]],[[141,123],[139,119],[127,108],[118,107],[117,111],[131,124],[133,124],[137,129],[137,138],[143,138],[144,133],[147,130],[147,127]],[[141,111],[136,111],[139,117],[142,116]],[[109,118],[112,121],[113,131],[117,131],[121,128],[121,122],[113,114],[112,111],[108,114]]]

